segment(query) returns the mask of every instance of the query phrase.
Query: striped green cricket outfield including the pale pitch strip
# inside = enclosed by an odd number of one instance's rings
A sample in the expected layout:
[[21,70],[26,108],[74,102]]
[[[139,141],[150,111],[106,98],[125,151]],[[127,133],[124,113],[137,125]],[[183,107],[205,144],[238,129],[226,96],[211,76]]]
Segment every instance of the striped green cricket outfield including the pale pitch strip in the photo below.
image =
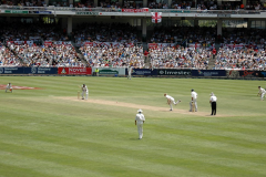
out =
[[[0,177],[266,176],[264,81],[1,76]],[[85,83],[89,101],[78,101]],[[198,112],[188,112],[191,88]],[[209,94],[218,98],[209,116]],[[181,104],[170,112],[164,93]],[[134,125],[146,117],[143,139]]]

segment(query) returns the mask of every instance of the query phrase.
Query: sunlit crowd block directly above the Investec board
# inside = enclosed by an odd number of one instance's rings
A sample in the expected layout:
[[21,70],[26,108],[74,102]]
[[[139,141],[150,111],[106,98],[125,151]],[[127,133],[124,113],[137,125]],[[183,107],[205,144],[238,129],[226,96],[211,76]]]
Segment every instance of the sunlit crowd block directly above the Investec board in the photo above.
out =
[[175,69],[208,69],[208,61],[213,58],[212,50],[195,48],[161,46],[150,49],[153,67]]

